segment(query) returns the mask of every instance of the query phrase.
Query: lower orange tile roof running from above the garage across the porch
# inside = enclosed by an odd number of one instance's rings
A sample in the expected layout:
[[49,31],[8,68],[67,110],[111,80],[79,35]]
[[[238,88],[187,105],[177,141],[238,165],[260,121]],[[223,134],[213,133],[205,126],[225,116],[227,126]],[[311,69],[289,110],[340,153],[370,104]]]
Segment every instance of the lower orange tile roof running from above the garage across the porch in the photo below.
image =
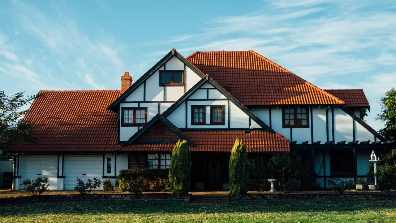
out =
[[[25,121],[32,121],[36,144],[22,141],[5,152],[171,151],[174,144],[118,144],[117,113],[106,110],[120,90],[40,91]],[[289,151],[289,142],[267,131],[186,131],[191,151],[230,152],[236,137],[248,152]]]

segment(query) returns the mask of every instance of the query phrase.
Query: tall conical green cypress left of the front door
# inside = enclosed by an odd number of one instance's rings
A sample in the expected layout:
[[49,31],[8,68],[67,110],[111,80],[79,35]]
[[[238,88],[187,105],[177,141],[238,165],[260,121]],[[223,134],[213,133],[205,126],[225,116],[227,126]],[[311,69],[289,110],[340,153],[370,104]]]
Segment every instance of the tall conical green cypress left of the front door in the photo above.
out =
[[191,153],[186,140],[179,140],[172,151],[169,183],[172,194],[188,194],[190,190]]

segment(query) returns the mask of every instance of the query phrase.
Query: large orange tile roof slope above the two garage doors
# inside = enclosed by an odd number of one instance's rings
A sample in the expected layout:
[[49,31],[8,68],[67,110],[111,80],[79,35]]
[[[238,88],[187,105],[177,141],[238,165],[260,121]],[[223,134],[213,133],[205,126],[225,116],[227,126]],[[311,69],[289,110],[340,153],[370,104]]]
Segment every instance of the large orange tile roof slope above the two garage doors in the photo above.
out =
[[40,91],[24,117],[32,121],[36,144],[6,151],[106,152],[118,148],[117,113],[106,110],[120,90]]

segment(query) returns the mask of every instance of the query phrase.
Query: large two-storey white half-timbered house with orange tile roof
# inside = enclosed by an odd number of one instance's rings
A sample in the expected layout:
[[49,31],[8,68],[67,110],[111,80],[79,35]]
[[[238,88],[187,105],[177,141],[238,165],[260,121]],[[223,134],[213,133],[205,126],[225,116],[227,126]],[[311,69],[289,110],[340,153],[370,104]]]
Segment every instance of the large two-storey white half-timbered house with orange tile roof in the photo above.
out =
[[236,137],[257,156],[308,154],[312,183],[326,186],[328,177],[365,177],[372,149],[392,146],[361,119],[363,90],[323,90],[254,51],[185,58],[172,49],[133,84],[122,75],[121,90],[41,92],[25,116],[38,143],[6,150],[16,190],[39,175],[70,190],[76,177],[168,168],[179,139],[192,152],[192,189],[221,189]]

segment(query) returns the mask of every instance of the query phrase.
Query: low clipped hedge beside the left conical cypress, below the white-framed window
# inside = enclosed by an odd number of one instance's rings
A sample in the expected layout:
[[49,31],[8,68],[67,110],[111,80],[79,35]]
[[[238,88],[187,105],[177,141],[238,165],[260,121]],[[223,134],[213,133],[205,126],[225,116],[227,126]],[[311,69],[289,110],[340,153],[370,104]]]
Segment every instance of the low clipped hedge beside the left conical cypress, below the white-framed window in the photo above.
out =
[[118,172],[120,191],[141,194],[169,191],[169,169],[123,169]]

